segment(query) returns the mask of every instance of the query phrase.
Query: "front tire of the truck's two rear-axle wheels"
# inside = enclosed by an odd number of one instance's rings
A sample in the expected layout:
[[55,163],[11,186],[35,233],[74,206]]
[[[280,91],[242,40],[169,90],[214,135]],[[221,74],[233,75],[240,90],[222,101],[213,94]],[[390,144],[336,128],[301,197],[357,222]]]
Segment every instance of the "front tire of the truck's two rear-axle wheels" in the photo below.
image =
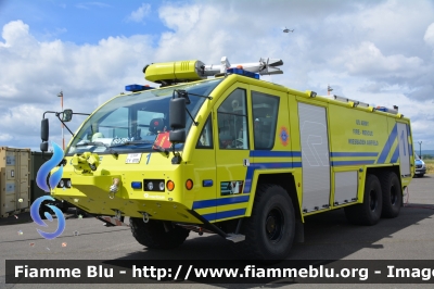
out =
[[345,206],[345,216],[352,224],[372,226],[379,223],[382,204],[380,180],[375,175],[368,175],[365,183],[363,202]]

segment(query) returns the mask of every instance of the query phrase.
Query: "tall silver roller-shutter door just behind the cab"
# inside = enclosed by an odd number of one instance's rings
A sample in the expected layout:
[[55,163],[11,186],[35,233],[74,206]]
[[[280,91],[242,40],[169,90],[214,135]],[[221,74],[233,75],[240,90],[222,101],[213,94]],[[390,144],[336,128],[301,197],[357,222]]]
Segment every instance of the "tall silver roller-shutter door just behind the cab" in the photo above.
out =
[[303,165],[303,212],[330,205],[330,150],[327,111],[323,106],[298,102]]

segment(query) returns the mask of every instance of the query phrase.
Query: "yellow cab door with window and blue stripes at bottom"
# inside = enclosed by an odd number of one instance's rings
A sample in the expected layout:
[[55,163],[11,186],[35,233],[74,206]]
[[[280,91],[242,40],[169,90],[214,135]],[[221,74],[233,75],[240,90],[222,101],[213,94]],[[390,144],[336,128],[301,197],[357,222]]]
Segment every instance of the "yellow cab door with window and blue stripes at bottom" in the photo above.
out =
[[213,221],[245,214],[250,194],[243,194],[251,143],[248,86],[235,84],[216,103],[217,213]]

